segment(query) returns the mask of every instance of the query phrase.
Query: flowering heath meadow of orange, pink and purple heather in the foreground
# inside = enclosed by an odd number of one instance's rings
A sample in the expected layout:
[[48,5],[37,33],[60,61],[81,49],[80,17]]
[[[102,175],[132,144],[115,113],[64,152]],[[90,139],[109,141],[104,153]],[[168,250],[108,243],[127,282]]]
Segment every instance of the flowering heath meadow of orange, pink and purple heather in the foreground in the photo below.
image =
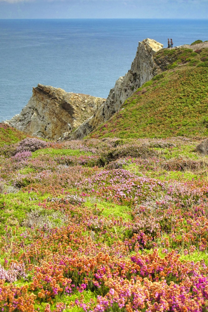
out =
[[208,310],[208,143],[0,148],[2,312]]

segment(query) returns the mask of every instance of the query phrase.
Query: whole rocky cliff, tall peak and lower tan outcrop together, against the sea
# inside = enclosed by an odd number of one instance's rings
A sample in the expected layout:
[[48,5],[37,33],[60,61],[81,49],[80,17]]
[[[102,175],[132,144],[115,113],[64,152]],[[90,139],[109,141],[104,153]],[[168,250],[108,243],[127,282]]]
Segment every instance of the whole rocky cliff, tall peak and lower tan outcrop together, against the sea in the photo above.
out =
[[162,47],[149,38],[139,42],[131,69],[116,81],[106,100],[38,84],[22,112],[5,123],[42,138],[81,139],[111,118],[134,90],[162,71],[153,57]]

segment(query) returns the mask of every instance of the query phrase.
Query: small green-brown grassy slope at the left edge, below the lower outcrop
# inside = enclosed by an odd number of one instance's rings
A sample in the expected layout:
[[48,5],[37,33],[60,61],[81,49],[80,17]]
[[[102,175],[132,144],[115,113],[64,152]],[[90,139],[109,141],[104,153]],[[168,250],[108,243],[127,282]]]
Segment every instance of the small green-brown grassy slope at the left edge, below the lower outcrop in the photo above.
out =
[[0,146],[13,144],[26,138],[23,132],[9,127],[7,124],[0,124]]

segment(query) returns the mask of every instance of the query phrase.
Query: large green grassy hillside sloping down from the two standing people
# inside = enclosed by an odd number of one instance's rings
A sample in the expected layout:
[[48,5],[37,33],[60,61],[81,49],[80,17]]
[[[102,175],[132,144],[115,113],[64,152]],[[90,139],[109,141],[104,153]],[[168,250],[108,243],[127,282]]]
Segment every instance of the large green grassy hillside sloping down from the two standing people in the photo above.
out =
[[164,72],[137,89],[90,137],[208,135],[208,48],[162,49],[155,60]]

